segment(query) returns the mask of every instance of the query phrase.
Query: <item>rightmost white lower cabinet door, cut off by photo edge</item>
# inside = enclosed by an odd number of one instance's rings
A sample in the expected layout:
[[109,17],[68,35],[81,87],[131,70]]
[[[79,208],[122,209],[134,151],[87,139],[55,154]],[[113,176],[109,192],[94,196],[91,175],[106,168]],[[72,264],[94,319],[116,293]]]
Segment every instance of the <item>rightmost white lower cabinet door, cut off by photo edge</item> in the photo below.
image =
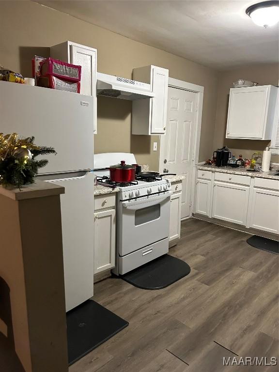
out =
[[250,226],[269,233],[279,233],[279,192],[253,189]]

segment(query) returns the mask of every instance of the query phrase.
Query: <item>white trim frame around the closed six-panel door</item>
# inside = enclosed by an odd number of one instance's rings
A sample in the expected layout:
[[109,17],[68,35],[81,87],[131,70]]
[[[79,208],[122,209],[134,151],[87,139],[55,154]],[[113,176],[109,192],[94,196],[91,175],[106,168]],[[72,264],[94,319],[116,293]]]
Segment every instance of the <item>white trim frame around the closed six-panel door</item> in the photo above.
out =
[[[197,93],[197,108],[196,108],[196,126],[194,131],[194,153],[192,157],[192,182],[191,182],[191,197],[190,197],[190,214],[193,214],[194,206],[194,196],[195,196],[195,185],[196,185],[196,165],[199,163],[199,152],[200,152],[200,140],[201,140],[201,128],[202,128],[202,104],[203,104],[203,91],[204,87],[202,85],[188,83],[183,80],[178,80],[175,78],[169,78],[169,88],[177,88],[183,91],[190,91]],[[163,152],[161,151],[162,140],[165,140],[166,136],[160,136],[160,154],[159,154],[159,172],[163,173]],[[186,218],[189,218],[186,217]]]

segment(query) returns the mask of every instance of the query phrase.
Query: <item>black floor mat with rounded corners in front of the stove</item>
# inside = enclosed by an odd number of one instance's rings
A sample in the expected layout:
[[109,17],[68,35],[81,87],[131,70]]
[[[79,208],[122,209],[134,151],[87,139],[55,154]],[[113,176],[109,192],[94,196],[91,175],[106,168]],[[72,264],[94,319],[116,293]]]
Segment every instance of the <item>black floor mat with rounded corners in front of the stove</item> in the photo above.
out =
[[162,289],[186,277],[190,271],[191,268],[185,261],[165,254],[120,278],[141,289]]

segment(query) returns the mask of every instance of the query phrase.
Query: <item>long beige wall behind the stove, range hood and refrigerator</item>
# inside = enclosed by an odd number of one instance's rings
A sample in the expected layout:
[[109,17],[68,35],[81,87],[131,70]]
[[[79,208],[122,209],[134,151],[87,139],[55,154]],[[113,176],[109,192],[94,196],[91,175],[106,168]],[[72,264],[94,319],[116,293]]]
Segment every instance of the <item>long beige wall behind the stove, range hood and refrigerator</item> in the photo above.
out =
[[[48,56],[49,47],[71,40],[98,50],[98,71],[132,77],[134,67],[155,64],[170,70],[172,78],[204,86],[200,159],[213,151],[217,71],[198,63],[130,40],[31,1],[1,1],[0,63],[31,76],[34,54]],[[135,152],[139,163],[158,169],[158,136],[131,135],[131,103],[98,98],[98,134],[95,152]],[[159,144],[159,143],[158,143]]]

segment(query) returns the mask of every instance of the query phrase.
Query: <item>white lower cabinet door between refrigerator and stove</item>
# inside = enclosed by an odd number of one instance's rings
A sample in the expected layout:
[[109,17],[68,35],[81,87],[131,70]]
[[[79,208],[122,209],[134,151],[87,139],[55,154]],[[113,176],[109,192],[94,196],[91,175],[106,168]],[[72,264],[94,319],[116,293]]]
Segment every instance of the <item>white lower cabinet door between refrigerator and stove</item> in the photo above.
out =
[[115,266],[115,209],[94,214],[94,273]]

